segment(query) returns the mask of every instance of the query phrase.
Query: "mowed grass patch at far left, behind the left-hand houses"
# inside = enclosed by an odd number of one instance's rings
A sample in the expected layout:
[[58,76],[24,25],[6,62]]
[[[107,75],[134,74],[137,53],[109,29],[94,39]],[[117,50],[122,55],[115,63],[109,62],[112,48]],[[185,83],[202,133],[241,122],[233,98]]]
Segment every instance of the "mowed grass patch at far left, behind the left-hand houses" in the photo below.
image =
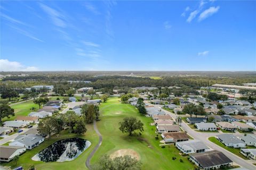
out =
[[[3,118],[2,121],[13,121],[15,118],[20,116],[27,116],[30,112],[36,112],[39,109],[39,106],[33,103],[33,100],[26,101],[24,103],[15,104],[11,106],[14,109],[14,116],[10,116],[10,118]],[[30,108],[35,107],[36,111],[31,111]]]

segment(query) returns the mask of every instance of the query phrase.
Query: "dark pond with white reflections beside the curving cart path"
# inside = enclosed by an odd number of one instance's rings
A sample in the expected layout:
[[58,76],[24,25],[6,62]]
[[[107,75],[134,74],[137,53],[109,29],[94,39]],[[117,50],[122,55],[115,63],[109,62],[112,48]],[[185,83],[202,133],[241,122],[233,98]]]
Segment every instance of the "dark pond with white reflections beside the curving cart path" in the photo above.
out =
[[91,142],[81,138],[59,140],[43,149],[32,160],[43,162],[65,162],[77,158],[91,145]]

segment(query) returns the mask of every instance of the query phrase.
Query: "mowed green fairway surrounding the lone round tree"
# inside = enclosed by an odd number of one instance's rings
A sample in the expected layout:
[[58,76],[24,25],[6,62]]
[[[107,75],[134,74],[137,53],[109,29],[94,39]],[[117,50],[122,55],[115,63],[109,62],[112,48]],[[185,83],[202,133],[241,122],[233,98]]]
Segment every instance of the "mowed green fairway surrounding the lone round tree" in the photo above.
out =
[[[155,139],[156,128],[150,126],[153,120],[140,115],[134,106],[121,104],[118,98],[109,98],[107,103],[101,103],[100,113],[101,121],[97,122],[97,126],[103,141],[92,157],[91,164],[97,162],[103,154],[111,155],[119,149],[133,149],[140,155],[142,169],[194,169],[187,157],[181,156],[173,145],[166,145],[165,148],[159,146],[162,139],[160,134],[159,139]],[[137,134],[130,137],[118,129],[118,123],[127,116],[134,116],[144,124],[141,136]],[[172,160],[172,157],[177,159]],[[180,158],[183,163],[180,162]]]

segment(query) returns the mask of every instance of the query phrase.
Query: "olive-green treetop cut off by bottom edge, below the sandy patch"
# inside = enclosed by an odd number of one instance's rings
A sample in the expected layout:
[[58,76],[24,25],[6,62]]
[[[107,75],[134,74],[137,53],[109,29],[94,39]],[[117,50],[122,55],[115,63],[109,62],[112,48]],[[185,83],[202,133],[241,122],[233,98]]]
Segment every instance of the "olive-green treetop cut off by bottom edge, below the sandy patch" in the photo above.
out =
[[100,157],[98,162],[92,166],[93,170],[139,170],[141,163],[130,155],[111,159],[108,155]]

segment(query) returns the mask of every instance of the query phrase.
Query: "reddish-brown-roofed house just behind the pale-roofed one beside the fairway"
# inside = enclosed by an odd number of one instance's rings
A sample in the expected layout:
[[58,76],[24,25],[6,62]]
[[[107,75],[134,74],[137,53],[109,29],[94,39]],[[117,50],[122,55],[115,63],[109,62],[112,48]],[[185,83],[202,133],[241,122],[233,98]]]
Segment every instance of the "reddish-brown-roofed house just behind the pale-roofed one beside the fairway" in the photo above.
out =
[[186,132],[167,132],[161,134],[165,143],[175,143],[189,140],[189,135]]

